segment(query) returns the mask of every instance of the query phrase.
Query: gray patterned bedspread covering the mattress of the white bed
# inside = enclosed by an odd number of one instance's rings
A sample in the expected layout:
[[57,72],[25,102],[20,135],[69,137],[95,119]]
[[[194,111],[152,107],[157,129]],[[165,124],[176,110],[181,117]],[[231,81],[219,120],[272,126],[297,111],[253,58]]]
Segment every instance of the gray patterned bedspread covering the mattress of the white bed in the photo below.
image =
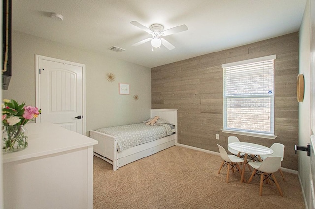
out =
[[172,134],[171,127],[168,124],[150,126],[144,123],[113,126],[96,131],[114,136],[117,140],[118,152]]

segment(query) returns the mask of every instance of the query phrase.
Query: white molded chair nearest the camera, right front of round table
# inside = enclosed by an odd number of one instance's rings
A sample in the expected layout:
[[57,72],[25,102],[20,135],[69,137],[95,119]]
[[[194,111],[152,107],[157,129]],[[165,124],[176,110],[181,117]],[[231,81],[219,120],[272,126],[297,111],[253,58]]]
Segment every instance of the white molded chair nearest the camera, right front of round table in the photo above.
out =
[[272,180],[280,193],[280,196],[283,196],[280,186],[276,180],[274,172],[278,171],[281,166],[281,157],[267,157],[262,162],[248,162],[250,166],[252,166],[255,170],[252,172],[252,175],[247,183],[252,181],[252,178],[256,174],[260,174],[260,189],[259,195],[262,195],[262,184],[263,181],[266,180],[266,183],[270,183],[269,179]]

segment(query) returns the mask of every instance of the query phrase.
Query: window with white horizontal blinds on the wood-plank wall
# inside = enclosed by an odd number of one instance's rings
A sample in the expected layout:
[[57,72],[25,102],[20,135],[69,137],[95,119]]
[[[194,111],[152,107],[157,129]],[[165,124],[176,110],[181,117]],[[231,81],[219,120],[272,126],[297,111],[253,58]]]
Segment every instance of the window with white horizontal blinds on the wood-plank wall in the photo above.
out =
[[276,55],[223,64],[223,132],[274,136]]

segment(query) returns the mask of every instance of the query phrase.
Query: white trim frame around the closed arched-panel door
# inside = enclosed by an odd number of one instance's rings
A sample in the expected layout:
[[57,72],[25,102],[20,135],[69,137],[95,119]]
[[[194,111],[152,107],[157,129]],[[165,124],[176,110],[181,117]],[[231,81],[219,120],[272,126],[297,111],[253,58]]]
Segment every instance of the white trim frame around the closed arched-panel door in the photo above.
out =
[[[36,106],[40,109],[41,105],[40,105],[40,79],[39,79],[39,63],[40,63],[40,59],[45,59],[48,61],[53,61],[53,62],[61,62],[64,64],[68,64],[68,65],[75,65],[75,66],[80,66],[82,67],[82,122],[83,122],[83,127],[82,127],[82,133],[83,135],[85,135],[85,130],[86,130],[86,111],[85,111],[85,65],[84,64],[80,64],[80,63],[75,63],[75,62],[70,62],[70,61],[65,61],[62,59],[56,59],[56,58],[51,58],[51,57],[47,57],[47,56],[42,56],[42,55],[37,55],[35,54],[35,83],[36,83],[36,89],[35,89],[35,100],[36,100]],[[36,118],[36,123],[40,122],[40,116],[38,118]]]

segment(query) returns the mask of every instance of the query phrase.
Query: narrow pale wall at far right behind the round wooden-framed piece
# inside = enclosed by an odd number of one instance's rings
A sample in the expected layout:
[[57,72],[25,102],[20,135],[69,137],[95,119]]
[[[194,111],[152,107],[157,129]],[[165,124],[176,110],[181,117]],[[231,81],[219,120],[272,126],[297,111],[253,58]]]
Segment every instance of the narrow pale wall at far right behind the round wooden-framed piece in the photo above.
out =
[[[310,2],[306,3],[299,31],[299,74],[304,75],[304,100],[299,103],[299,145],[306,146],[311,136],[311,60],[310,60]],[[299,151],[299,178],[306,204],[310,203],[310,157]],[[309,206],[310,207],[310,206]],[[309,208],[308,207],[308,208]]]

